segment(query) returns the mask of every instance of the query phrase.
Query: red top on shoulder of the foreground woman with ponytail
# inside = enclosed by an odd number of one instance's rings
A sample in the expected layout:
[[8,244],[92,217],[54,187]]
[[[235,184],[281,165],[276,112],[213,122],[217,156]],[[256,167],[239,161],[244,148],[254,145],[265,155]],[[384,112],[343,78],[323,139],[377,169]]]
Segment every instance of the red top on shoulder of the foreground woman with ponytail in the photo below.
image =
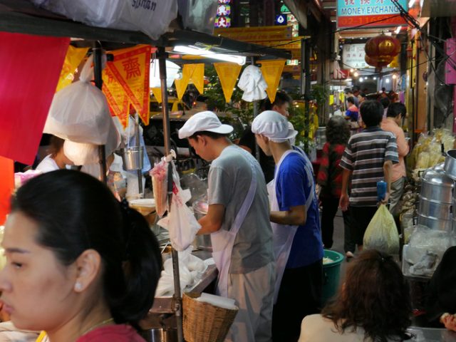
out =
[[102,326],[86,333],[78,338],[76,342],[144,342],[135,329],[126,324],[115,324]]

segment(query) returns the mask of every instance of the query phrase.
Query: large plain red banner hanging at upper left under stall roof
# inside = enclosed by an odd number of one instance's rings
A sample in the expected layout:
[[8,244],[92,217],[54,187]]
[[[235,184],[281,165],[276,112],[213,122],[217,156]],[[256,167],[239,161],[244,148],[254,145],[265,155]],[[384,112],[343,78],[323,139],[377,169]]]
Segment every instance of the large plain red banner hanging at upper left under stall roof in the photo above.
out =
[[33,163],[69,43],[0,32],[0,156]]

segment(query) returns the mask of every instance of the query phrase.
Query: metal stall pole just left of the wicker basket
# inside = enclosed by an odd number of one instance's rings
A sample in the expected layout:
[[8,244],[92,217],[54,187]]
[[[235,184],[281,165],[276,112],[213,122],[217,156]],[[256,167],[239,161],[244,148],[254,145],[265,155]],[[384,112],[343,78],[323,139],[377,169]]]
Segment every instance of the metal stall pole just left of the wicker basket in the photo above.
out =
[[[165,155],[170,154],[171,132],[170,115],[168,113],[168,94],[166,88],[166,52],[165,48],[160,47],[157,51],[158,67],[160,69],[160,86],[162,90],[162,115],[163,115],[163,136],[165,139]],[[171,206],[172,200],[172,165],[168,166],[168,201]],[[182,298],[180,294],[180,274],[179,274],[179,254],[172,249],[172,273],[174,276],[174,311],[177,324],[177,341],[184,342],[184,331],[182,329]]]

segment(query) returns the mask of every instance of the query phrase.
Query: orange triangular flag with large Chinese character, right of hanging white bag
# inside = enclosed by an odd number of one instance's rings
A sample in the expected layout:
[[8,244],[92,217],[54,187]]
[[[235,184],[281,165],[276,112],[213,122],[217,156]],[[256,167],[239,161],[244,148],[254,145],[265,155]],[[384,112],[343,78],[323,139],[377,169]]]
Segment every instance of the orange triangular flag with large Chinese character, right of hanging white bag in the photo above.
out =
[[[148,45],[138,45],[113,51],[114,61],[106,65],[145,125],[149,124],[150,117],[150,49]],[[120,98],[120,95],[114,95],[114,98]]]

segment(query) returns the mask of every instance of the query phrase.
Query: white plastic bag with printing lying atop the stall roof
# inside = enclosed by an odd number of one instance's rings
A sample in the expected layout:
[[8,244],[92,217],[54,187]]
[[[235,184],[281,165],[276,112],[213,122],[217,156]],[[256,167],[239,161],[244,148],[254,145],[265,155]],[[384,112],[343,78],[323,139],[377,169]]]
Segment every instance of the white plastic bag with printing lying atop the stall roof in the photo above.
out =
[[49,11],[84,24],[142,31],[152,39],[168,31],[177,17],[177,0],[31,0]]

